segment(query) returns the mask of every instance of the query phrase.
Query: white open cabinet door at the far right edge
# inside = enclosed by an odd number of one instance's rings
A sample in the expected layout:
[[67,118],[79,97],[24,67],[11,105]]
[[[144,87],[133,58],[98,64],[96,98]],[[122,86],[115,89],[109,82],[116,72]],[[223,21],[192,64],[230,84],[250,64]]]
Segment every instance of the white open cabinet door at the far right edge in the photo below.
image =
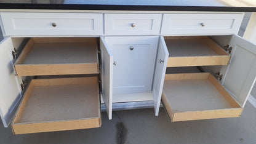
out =
[[233,35],[230,65],[222,85],[244,107],[256,77],[256,46],[245,39]]

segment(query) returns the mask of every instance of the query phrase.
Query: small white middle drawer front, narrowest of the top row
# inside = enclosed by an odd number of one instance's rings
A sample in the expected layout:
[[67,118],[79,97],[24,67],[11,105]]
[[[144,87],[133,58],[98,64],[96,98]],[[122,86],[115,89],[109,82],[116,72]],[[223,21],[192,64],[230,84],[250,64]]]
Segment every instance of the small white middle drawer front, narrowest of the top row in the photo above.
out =
[[161,14],[105,14],[105,34],[159,34],[161,18]]

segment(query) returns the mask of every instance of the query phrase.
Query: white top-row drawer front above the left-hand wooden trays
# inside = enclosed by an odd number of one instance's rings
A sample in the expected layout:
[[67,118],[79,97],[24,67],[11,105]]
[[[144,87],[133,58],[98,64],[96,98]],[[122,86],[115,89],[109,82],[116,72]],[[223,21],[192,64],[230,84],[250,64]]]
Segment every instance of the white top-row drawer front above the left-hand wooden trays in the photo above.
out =
[[100,35],[103,31],[102,14],[3,12],[1,18],[9,36]]

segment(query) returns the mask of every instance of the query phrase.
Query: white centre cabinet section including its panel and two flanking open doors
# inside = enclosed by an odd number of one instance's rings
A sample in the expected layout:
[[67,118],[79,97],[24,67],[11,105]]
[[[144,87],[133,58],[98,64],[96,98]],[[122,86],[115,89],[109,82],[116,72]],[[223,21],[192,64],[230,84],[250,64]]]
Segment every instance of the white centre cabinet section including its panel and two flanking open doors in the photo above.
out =
[[[162,36],[105,36],[101,38],[103,96],[112,103],[151,101],[156,116],[161,102],[168,50]],[[104,99],[104,97],[103,97]]]

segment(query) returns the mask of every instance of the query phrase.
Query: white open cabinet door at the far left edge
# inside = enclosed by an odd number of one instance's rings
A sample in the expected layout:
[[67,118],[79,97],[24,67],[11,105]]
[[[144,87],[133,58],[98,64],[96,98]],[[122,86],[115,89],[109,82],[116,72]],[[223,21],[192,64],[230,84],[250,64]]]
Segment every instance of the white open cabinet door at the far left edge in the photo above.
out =
[[0,42],[0,115],[4,127],[8,127],[15,114],[15,106],[22,98],[18,79],[15,77],[12,50],[12,39],[5,38]]

